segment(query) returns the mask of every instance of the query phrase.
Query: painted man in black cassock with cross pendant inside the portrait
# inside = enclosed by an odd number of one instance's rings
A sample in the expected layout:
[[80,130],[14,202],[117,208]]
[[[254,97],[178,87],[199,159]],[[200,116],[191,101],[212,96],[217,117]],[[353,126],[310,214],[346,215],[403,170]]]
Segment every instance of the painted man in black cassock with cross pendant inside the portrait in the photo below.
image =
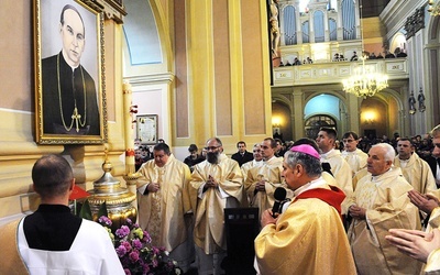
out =
[[75,7],[63,8],[59,34],[62,51],[42,61],[44,133],[99,135],[95,80],[79,64],[85,28]]

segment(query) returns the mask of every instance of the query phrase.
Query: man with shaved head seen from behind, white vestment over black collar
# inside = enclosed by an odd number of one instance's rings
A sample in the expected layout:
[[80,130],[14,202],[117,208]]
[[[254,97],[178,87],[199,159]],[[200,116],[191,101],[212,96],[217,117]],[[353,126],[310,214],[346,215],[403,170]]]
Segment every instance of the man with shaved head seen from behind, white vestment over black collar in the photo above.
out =
[[70,211],[69,163],[59,155],[42,156],[32,182],[41,205],[0,229],[0,274],[124,274],[106,229]]

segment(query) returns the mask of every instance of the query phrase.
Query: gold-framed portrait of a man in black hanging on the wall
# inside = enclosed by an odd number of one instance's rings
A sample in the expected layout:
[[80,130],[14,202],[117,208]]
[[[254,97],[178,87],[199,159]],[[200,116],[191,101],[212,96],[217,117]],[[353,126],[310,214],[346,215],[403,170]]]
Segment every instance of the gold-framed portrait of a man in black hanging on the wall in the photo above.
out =
[[33,0],[35,140],[107,142],[103,20],[80,0]]

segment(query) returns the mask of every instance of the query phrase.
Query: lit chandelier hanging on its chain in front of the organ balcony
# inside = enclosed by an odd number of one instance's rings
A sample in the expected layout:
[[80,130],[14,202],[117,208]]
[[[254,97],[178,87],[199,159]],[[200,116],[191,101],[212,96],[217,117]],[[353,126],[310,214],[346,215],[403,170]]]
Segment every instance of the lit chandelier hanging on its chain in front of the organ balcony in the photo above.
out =
[[362,1],[360,2],[361,14],[361,42],[362,42],[362,66],[354,69],[354,75],[343,79],[343,90],[355,95],[356,97],[373,97],[376,92],[388,87],[388,76],[375,73],[372,67],[365,66],[365,59],[369,58],[364,51],[363,23],[362,23]]

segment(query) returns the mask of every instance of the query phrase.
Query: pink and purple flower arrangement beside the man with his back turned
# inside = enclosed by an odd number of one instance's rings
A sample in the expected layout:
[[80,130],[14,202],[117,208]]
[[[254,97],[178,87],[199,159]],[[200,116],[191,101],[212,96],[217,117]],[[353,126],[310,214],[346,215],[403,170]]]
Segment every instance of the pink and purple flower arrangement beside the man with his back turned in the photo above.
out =
[[107,229],[127,275],[179,275],[182,270],[164,248],[152,245],[148,232],[127,219],[127,226],[111,231],[111,220],[101,216],[98,222]]

